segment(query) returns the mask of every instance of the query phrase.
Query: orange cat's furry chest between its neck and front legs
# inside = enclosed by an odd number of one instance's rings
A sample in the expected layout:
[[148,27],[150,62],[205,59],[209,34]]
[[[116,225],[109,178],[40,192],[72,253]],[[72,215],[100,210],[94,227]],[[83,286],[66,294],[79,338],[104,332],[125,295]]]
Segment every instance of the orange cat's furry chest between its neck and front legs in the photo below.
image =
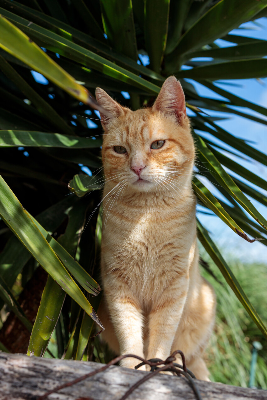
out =
[[183,205],[164,206],[118,204],[103,216],[103,280],[118,291],[129,291],[142,304],[150,304],[152,296],[185,274],[191,262],[194,205],[190,218]]

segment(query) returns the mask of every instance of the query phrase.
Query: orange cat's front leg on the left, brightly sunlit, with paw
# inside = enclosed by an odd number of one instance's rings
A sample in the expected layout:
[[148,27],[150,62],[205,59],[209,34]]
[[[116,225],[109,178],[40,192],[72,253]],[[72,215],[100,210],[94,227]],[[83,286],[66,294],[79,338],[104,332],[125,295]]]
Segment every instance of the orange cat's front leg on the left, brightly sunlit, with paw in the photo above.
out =
[[[144,358],[143,312],[138,301],[129,294],[106,294],[106,299],[120,345],[120,355],[135,354]],[[136,358],[124,358],[120,365],[134,369],[139,362]],[[140,369],[145,370],[145,367]]]

